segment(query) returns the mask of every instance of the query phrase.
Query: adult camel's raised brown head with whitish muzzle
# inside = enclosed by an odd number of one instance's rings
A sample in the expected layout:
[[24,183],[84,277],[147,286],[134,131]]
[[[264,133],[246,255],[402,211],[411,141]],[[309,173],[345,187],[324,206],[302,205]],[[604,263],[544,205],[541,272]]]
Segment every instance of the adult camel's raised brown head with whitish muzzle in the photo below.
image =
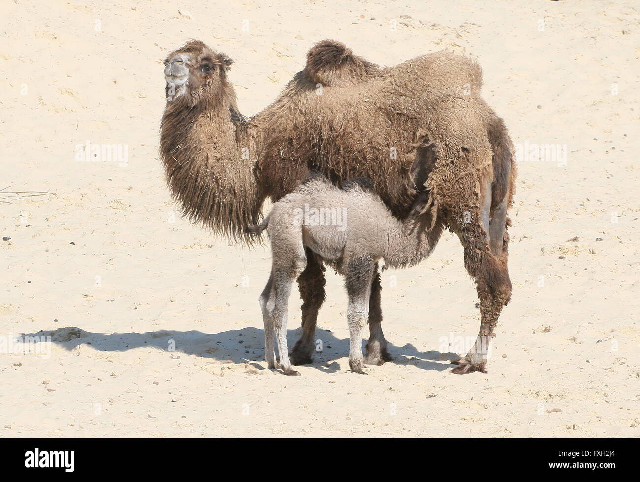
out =
[[164,61],[166,99],[189,99],[195,105],[211,95],[221,95],[228,88],[227,71],[232,63],[228,56],[199,40],[189,41]]

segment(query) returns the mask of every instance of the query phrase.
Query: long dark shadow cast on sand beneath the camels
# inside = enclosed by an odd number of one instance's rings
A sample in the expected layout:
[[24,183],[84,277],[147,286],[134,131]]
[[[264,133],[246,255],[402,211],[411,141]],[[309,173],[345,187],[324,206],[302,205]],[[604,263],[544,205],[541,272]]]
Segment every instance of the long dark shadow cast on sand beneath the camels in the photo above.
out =
[[[301,328],[287,330],[287,344],[292,347],[300,337]],[[51,342],[71,351],[81,344],[92,346],[98,351],[127,351],[146,347],[166,351],[173,356],[195,355],[219,362],[252,364],[257,370],[266,369],[258,362],[264,362],[264,330],[252,326],[242,330],[228,330],[220,333],[198,331],[178,332],[160,330],[146,333],[92,333],[73,326],[56,330],[41,330],[24,334],[24,337],[51,337]],[[326,373],[344,370],[335,362],[349,353],[349,339],[339,339],[330,330],[317,328],[316,341],[321,351],[314,353],[312,364],[307,365]],[[363,341],[363,350],[364,350]],[[451,368],[442,362],[458,358],[455,353],[440,353],[431,350],[420,352],[412,344],[402,347],[389,344],[388,351],[394,360],[392,364],[413,365],[425,370],[444,371]]]

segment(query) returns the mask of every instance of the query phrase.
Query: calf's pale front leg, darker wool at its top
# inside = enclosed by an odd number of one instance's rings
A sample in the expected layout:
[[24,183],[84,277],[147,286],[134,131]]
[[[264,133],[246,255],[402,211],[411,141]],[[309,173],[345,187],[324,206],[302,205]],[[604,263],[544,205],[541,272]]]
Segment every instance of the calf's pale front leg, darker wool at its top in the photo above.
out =
[[371,280],[375,264],[370,259],[349,261],[344,272],[345,285],[349,296],[347,323],[349,325],[349,368],[364,374],[362,357],[362,329],[369,317]]

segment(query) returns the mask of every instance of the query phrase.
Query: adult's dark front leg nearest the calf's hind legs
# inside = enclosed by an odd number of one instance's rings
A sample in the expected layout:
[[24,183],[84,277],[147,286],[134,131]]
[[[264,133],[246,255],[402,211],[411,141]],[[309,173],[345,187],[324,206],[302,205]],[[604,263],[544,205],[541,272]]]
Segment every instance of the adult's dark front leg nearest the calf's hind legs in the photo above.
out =
[[316,320],[318,310],[326,299],[324,266],[316,255],[307,248],[307,267],[298,277],[298,289],[302,299],[302,335],[291,351],[291,363],[306,365],[311,363],[315,348]]

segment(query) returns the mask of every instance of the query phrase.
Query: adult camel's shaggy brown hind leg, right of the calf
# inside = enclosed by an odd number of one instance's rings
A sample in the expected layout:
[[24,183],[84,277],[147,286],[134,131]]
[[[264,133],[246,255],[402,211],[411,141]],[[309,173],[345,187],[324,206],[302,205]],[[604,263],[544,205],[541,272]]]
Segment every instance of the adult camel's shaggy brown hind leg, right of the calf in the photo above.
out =
[[[486,189],[487,186],[484,185],[483,194],[486,194]],[[483,198],[485,201],[478,209],[471,209],[465,213],[458,212],[459,216],[449,220],[449,225],[456,231],[465,248],[465,268],[476,281],[482,316],[474,346],[466,357],[454,362],[459,366],[453,370],[453,373],[458,374],[473,371],[486,373],[490,343],[495,337],[495,326],[502,307],[511,297],[511,281],[507,269],[506,209],[494,211],[493,218],[490,220],[484,213],[487,197],[483,196]],[[502,229],[499,229],[500,227]],[[492,234],[499,235],[500,240],[492,239]]]

